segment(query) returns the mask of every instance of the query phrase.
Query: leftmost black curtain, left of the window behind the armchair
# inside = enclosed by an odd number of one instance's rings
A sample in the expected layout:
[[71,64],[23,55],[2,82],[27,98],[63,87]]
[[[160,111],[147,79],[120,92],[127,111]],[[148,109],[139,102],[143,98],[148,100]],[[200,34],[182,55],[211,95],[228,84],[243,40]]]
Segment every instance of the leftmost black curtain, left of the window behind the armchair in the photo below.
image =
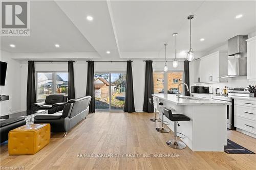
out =
[[28,61],[28,82],[27,82],[27,110],[32,109],[32,104],[36,103],[35,93],[35,65],[34,61]]

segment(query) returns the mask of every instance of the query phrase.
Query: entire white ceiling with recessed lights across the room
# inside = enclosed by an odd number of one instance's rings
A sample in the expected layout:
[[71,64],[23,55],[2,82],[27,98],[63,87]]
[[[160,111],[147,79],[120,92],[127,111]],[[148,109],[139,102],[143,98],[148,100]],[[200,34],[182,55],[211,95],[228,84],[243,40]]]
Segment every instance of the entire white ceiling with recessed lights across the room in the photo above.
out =
[[[167,57],[173,57],[173,33],[178,33],[177,51],[189,49],[190,14],[195,15],[192,47],[196,54],[256,31],[255,1],[32,1],[30,7],[31,35],[2,36],[2,50],[161,59],[167,42]],[[235,19],[238,14],[243,17]],[[94,20],[88,21],[88,15]],[[11,43],[16,47],[11,48]],[[55,43],[60,47],[55,48]]]

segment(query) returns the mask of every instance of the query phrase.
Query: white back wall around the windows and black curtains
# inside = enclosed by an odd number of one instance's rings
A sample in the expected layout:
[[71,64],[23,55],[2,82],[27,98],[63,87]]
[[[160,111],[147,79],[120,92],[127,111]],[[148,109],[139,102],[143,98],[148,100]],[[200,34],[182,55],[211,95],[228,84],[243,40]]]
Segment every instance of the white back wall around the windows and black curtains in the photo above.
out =
[[[36,54],[35,54],[36,55]],[[72,55],[71,55],[72,56]],[[163,70],[165,62],[153,62],[153,70]],[[26,88],[27,88],[27,61],[22,64],[22,79],[26,80],[22,83],[23,102],[22,110],[26,110]],[[176,69],[173,68],[172,62],[167,62],[169,70],[184,70],[184,62],[179,62]],[[145,62],[134,60],[132,62],[133,68],[133,86],[134,86],[134,103],[135,110],[141,112],[144,100],[144,82],[145,82]],[[36,62],[36,71],[68,71],[68,64],[63,62]],[[104,71],[124,71],[126,72],[126,62],[95,62],[95,72]],[[87,62],[75,61],[74,62],[74,78],[75,78],[75,94],[76,98],[86,94],[87,82]]]

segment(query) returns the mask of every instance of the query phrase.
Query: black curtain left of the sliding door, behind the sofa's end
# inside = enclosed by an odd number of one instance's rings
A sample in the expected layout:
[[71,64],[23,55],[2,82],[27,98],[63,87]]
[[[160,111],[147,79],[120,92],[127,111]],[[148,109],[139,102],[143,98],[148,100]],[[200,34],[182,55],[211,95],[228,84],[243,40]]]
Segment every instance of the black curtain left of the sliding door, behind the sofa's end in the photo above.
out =
[[95,113],[95,95],[94,95],[94,62],[88,61],[87,66],[87,86],[86,95],[91,95],[91,103],[89,105],[89,113]]

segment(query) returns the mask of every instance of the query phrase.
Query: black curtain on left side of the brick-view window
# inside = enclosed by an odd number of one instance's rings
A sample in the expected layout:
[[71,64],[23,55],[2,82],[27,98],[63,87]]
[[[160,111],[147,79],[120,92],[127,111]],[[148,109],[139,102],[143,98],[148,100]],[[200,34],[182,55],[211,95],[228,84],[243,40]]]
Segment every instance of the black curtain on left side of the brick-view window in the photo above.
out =
[[152,99],[152,94],[154,93],[154,81],[153,81],[153,67],[152,61],[146,61],[145,69],[145,90],[144,90],[144,104],[143,111],[152,113],[154,112],[154,107],[148,102],[148,99]]

